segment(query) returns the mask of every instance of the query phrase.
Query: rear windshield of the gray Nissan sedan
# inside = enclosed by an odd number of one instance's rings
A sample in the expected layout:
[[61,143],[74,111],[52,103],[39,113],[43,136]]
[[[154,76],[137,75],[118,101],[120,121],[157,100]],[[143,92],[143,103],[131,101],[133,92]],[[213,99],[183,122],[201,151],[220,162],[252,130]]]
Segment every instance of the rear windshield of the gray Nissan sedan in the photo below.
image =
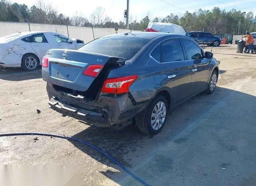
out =
[[94,40],[80,48],[78,51],[92,52],[112,57],[131,59],[150,40],[132,37],[106,37]]

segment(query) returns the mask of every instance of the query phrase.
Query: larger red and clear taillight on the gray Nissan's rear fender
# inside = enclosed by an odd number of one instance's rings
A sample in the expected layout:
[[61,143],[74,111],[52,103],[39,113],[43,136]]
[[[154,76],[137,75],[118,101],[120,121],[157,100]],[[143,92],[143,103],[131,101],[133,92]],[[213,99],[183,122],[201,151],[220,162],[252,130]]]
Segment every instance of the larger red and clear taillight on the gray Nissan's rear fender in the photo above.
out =
[[128,93],[129,87],[137,78],[138,75],[131,75],[126,77],[106,79],[102,87],[102,92],[111,94]]

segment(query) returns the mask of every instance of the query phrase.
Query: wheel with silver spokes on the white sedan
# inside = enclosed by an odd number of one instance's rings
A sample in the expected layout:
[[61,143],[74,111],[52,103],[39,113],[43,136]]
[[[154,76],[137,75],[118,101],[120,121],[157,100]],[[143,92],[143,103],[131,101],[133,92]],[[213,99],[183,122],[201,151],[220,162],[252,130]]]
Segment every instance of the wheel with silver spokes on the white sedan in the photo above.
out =
[[38,68],[39,59],[34,54],[23,55],[21,59],[21,67],[26,71],[34,71]]

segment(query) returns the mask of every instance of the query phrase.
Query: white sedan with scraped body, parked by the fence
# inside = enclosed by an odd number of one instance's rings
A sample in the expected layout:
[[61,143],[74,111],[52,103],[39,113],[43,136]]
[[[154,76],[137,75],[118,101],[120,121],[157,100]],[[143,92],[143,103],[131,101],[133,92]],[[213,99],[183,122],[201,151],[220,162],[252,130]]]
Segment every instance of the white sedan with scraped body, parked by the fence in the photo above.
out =
[[52,48],[76,49],[82,40],[72,40],[54,32],[22,32],[0,38],[0,66],[37,69],[42,58]]

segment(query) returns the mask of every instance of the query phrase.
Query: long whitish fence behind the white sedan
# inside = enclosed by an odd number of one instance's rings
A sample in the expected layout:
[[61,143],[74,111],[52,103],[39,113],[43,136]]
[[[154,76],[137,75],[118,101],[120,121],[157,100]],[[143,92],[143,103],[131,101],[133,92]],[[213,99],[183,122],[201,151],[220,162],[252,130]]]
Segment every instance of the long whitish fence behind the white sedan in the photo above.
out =
[[[78,38],[84,43],[90,42],[96,38],[115,34],[114,28],[92,28],[83,26],[65,26],[65,25],[51,25],[51,24],[35,24],[35,23],[19,23],[19,22],[0,22],[0,37],[14,34],[17,32],[28,31],[46,31],[57,32],[69,38]],[[118,33],[125,32],[141,32],[136,30],[118,29]]]

